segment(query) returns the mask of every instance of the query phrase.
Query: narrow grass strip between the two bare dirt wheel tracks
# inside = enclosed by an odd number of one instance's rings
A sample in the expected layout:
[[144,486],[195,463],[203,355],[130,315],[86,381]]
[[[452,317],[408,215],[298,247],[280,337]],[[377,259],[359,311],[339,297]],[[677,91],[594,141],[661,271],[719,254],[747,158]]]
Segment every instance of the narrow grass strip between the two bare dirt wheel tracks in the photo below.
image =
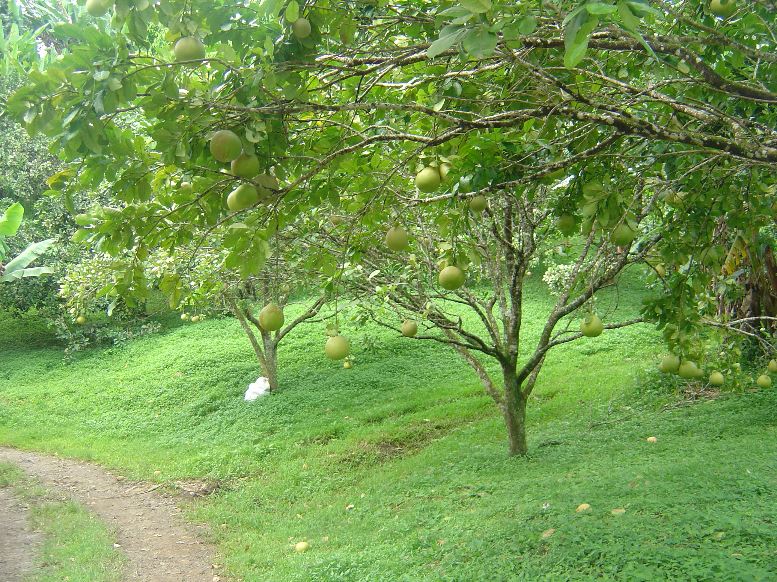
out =
[[0,487],[30,508],[30,526],[43,532],[37,548],[37,568],[22,582],[119,582],[124,557],[113,548],[115,535],[82,506],[40,487],[36,480],[8,463],[0,463]]

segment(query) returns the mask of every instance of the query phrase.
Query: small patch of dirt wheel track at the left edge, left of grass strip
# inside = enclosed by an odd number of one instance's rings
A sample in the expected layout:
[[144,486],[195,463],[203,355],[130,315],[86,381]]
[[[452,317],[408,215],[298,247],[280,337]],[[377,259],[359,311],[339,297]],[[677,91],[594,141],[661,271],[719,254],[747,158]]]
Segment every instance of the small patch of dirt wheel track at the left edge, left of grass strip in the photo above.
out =
[[30,532],[27,507],[0,489],[0,580],[16,582],[33,567],[33,546],[40,533]]

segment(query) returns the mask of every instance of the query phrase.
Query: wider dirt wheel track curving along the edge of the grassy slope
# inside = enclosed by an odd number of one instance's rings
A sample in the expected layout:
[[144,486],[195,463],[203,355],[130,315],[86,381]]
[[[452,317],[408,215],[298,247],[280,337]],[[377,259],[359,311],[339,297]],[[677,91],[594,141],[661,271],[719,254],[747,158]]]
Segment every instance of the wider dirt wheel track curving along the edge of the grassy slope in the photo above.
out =
[[[15,449],[0,447],[0,461],[13,462],[26,473],[37,475],[46,487],[85,504],[117,528],[117,543],[128,560],[127,580],[226,582],[214,568],[214,564],[219,564],[216,549],[198,537],[204,532],[204,526],[185,524],[176,518],[180,510],[175,501],[159,489],[152,489],[152,485],[117,480],[116,476],[87,462],[55,459]],[[5,511],[12,511],[10,504],[2,505],[5,505]],[[0,523],[4,524],[2,511],[0,508]],[[22,517],[15,517],[17,515]],[[24,519],[23,511],[21,514],[11,512],[8,519],[7,522],[12,523],[11,531],[9,535],[0,535],[0,539],[15,538],[13,546],[19,548],[20,543],[24,544],[20,540],[30,535],[24,521],[16,526],[19,519]],[[28,541],[27,549],[29,546]],[[13,580],[11,574],[4,575],[2,551],[0,546],[0,580]],[[19,552],[18,549],[14,551]],[[26,555],[29,556],[29,551]]]

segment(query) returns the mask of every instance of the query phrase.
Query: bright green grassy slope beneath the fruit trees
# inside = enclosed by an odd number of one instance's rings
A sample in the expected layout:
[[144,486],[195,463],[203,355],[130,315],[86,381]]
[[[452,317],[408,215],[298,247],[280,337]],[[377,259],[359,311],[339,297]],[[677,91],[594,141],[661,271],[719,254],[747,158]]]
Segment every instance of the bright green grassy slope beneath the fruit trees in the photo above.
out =
[[[552,301],[532,285],[524,352]],[[619,318],[637,285],[622,286]],[[190,517],[245,582],[777,579],[771,390],[660,414],[645,372],[658,334],[606,331],[552,352],[530,455],[507,459],[502,420],[454,352],[346,329],[357,360],[344,370],[320,327],[284,341],[282,389],[253,403],[242,393],[260,366],[234,320],[67,366],[61,350],[5,342],[0,442],[137,479],[219,480]],[[308,553],[294,553],[301,540]]]

